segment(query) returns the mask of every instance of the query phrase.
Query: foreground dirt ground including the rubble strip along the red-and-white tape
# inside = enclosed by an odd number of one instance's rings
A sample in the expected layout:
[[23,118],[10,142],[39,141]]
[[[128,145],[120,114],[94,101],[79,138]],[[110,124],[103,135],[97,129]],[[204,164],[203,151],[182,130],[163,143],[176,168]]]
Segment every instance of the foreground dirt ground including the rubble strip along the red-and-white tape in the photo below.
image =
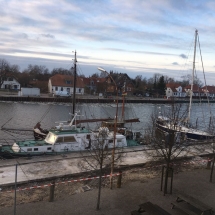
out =
[[[83,176],[83,177],[91,177]],[[17,192],[17,215],[43,215],[43,214],[130,214],[130,211],[138,209],[138,205],[151,201],[170,214],[181,214],[177,209],[171,209],[171,202],[175,201],[178,192],[183,191],[194,196],[200,201],[214,207],[215,210],[215,174],[214,182],[209,182],[210,170],[206,169],[206,162],[202,159],[193,161],[181,161],[174,167],[173,194],[163,195],[160,191],[160,165],[148,165],[123,171],[122,187],[109,189],[109,178],[103,179],[101,194],[101,209],[96,211],[98,180],[64,183],[56,185],[55,200],[49,202],[50,187],[25,190]],[[74,178],[73,178],[74,179]],[[68,181],[71,178],[61,178],[59,181]],[[49,184],[29,183],[18,188]],[[86,191],[86,188],[90,188]],[[13,188],[2,188],[0,192],[0,214],[13,214],[14,192],[7,193]],[[86,192],[85,192],[86,191]],[[145,213],[144,213],[145,214]]]

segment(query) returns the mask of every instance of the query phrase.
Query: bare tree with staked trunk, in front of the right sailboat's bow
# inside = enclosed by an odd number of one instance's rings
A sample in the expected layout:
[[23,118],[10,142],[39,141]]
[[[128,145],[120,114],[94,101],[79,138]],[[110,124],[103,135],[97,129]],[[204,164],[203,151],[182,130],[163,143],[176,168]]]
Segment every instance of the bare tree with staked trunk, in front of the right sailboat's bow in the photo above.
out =
[[[167,193],[168,173],[173,161],[187,149],[186,135],[182,132],[182,124],[187,117],[188,106],[172,102],[169,109],[153,113],[150,125],[145,132],[145,141],[154,149],[155,157],[159,157],[166,163],[164,179],[164,194]],[[163,117],[160,122],[165,126],[159,126],[158,115]]]

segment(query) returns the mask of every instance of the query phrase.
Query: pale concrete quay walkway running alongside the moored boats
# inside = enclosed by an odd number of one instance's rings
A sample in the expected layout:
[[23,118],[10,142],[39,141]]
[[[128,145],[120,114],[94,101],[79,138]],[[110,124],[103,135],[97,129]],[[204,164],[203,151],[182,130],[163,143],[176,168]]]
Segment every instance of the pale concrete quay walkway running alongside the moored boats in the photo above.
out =
[[[207,149],[207,147],[209,147],[209,149]],[[132,150],[143,150],[143,148],[139,146],[124,149],[123,158],[118,161],[118,166],[144,164],[155,159],[153,158],[153,156],[156,155],[154,150],[134,152],[132,152]],[[192,148],[182,152],[180,156],[192,157],[207,153],[211,153],[210,146],[204,146],[202,152]],[[0,164],[0,185],[14,183],[16,163],[19,164],[17,171],[17,181],[19,183],[85,172],[86,170],[83,170],[83,167],[80,165],[80,163],[83,162],[83,157],[81,157],[83,155],[87,156],[87,153],[71,153],[67,154],[66,157],[59,155],[54,158],[52,156],[41,156],[33,157],[31,160],[27,160],[26,158],[2,160]]]

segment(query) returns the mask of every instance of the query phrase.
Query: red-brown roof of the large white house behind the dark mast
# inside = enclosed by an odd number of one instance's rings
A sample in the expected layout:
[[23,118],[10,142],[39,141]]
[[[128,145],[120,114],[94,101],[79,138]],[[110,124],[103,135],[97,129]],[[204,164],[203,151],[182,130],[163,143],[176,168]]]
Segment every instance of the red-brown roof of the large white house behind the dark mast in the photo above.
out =
[[[56,74],[50,78],[52,86],[73,87],[73,76]],[[76,87],[84,88],[83,78],[77,77]]]

